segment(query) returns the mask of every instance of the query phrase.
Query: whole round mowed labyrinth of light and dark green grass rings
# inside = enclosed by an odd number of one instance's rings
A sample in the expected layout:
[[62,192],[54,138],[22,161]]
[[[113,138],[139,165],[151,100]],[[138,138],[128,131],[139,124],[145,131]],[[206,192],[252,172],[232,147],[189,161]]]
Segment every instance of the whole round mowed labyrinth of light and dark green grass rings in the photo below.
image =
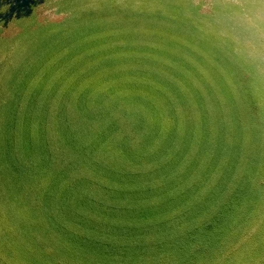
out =
[[261,128],[229,47],[187,19],[139,16],[52,31],[9,83],[21,88],[6,156],[38,190],[29,210],[95,256],[198,247],[190,234],[223,208],[240,219],[230,199],[250,192],[260,163]]

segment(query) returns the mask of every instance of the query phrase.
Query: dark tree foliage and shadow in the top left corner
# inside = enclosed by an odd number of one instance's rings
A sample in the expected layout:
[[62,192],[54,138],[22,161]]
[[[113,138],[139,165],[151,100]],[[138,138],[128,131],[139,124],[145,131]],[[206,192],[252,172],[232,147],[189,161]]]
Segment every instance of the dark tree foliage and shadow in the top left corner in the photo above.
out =
[[14,18],[28,17],[33,12],[33,7],[44,3],[45,0],[0,0],[0,24],[8,27]]

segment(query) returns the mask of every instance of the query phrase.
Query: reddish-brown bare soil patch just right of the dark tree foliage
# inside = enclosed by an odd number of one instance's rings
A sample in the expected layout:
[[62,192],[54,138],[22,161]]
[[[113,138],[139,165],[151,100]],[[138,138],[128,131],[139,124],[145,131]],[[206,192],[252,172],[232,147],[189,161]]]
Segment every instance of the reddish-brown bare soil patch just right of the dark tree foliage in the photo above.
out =
[[40,6],[37,10],[38,22],[41,24],[51,23],[61,23],[64,21],[68,14],[61,13],[59,15],[55,14],[58,8],[47,9],[44,5]]

